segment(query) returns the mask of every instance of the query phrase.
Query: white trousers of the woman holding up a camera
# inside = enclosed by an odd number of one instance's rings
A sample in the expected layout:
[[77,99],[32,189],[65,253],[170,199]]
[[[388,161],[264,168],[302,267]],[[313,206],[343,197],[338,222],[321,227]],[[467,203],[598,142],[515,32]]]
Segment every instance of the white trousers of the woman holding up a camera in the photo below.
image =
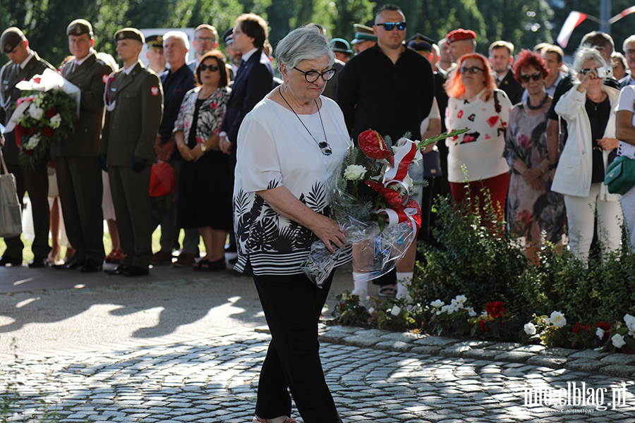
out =
[[592,183],[588,197],[564,195],[569,216],[569,247],[571,252],[586,262],[593,240],[595,209],[598,212],[598,238],[603,247],[617,250],[622,240],[622,207],[617,201],[600,200],[600,183]]

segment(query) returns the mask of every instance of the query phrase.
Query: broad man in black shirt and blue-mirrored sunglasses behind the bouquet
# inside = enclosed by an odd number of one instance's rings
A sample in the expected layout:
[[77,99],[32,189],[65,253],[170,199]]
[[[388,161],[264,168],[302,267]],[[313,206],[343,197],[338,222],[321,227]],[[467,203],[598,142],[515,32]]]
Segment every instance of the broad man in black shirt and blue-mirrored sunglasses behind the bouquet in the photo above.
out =
[[[394,4],[382,6],[375,15],[373,32],[377,44],[346,63],[338,82],[337,103],[344,113],[353,142],[373,128],[397,142],[405,133],[421,140],[421,121],[430,114],[435,97],[435,77],[430,62],[406,48],[406,17]],[[412,278],[416,246],[397,265],[397,278]],[[365,290],[363,274],[353,274],[356,290]],[[380,295],[394,296],[395,276],[375,280]],[[399,294],[401,294],[400,292]]]

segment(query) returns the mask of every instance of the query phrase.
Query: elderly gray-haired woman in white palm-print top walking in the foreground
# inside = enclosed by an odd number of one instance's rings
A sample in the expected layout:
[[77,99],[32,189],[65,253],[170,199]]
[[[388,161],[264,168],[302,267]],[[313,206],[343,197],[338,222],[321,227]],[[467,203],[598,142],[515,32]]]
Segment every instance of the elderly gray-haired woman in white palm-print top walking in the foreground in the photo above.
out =
[[[284,83],[247,114],[236,152],[236,269],[253,269],[272,335],[253,422],[295,422],[287,388],[304,422],[340,422],[317,343],[333,274],[320,289],[300,266],[315,240],[331,252],[346,245],[328,217],[328,187],[349,135],[339,106],[320,95],[335,74],[325,37],[298,28],[279,42],[276,59]],[[338,264],[350,259],[346,248]]]

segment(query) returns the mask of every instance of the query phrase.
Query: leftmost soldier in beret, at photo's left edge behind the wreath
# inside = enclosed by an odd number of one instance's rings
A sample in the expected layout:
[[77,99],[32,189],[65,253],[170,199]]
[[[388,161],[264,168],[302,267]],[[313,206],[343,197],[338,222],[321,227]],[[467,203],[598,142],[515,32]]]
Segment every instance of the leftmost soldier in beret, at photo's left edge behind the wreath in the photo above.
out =
[[[34,75],[41,75],[44,69],[55,70],[47,61],[40,59],[35,51],[29,48],[29,42],[18,28],[10,27],[0,37],[0,49],[8,56],[9,62],[0,70],[0,121],[6,126],[16,102],[20,98],[20,90],[16,84],[23,80],[30,80]],[[5,134],[2,152],[9,173],[16,176],[18,197],[22,202],[25,191],[29,192],[29,201],[33,210],[33,229],[35,239],[31,247],[34,258],[29,267],[43,267],[47,264],[49,247],[50,209],[47,196],[49,195],[49,176],[47,164],[42,162],[35,166],[35,171],[18,165],[20,149],[16,145],[13,131]],[[19,266],[22,264],[22,250],[24,244],[19,236],[4,238],[6,250],[0,259],[0,266]]]

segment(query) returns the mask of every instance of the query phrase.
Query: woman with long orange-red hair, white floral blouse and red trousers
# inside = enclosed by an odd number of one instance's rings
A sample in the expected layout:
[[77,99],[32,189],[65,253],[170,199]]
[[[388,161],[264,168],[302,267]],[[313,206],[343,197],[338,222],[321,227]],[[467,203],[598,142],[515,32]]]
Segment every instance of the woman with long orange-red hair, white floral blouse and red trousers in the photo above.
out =
[[[504,219],[509,187],[509,166],[502,156],[505,128],[512,103],[497,90],[490,63],[480,54],[465,54],[446,83],[449,97],[445,111],[448,130],[468,128],[468,132],[448,138],[448,180],[455,202],[467,197],[481,200],[487,188],[498,219]],[[466,176],[462,167],[466,168]],[[468,184],[464,183],[467,178]],[[473,202],[476,211],[476,202]]]

